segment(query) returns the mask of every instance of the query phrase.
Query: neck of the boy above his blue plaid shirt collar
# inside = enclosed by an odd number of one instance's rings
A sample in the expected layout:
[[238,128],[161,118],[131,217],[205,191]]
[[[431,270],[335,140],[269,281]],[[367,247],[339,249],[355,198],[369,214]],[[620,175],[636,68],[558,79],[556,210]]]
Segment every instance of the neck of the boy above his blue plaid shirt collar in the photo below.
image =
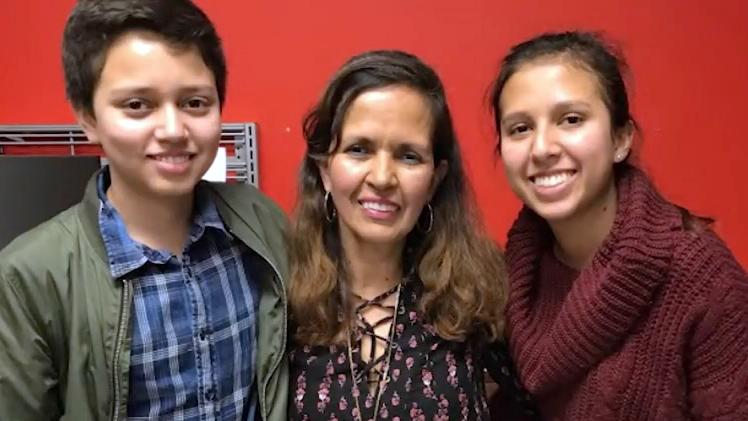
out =
[[107,198],[130,237],[150,248],[180,255],[189,235],[194,194],[154,197],[117,182],[114,174],[111,177]]

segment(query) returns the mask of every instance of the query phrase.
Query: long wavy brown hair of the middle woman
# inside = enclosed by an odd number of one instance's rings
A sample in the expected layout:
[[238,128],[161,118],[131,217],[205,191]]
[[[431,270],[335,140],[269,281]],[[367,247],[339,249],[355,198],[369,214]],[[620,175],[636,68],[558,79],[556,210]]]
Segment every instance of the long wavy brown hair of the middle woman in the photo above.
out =
[[[352,322],[338,222],[326,219],[319,164],[339,146],[336,139],[352,102],[363,92],[393,85],[407,86],[426,98],[434,122],[434,162],[448,164],[430,202],[433,228],[428,232],[414,228],[406,238],[402,256],[403,270],[413,271],[423,285],[420,311],[447,340],[464,341],[473,335],[496,339],[502,334],[506,291],[503,256],[476,215],[442,83],[417,57],[388,50],[370,51],[348,60],[304,119],[307,148],[289,235],[289,302],[294,337],[299,343],[342,343]],[[428,225],[426,212],[416,226]]]

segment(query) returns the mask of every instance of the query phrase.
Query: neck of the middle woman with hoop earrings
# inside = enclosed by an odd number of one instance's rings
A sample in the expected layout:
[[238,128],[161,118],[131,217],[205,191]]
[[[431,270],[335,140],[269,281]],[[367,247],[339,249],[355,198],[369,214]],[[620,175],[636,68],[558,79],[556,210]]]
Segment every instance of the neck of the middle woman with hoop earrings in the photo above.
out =
[[403,247],[404,244],[371,245],[343,241],[351,291],[361,298],[372,299],[397,285],[403,276]]

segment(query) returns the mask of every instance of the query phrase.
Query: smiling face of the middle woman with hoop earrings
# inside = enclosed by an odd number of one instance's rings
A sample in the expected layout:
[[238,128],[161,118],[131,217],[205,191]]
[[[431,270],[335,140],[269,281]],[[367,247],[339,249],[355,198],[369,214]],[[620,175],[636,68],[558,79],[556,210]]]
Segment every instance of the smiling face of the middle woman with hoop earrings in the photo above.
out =
[[360,94],[348,108],[338,144],[320,165],[344,247],[401,247],[446,171],[435,166],[433,117],[426,99],[395,85]]

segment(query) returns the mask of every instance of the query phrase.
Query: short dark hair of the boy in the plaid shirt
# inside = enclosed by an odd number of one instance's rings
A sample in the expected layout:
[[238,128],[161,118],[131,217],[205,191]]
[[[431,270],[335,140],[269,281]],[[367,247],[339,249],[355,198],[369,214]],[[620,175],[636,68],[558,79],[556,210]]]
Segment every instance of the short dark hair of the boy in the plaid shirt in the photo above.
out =
[[121,35],[147,30],[178,48],[195,46],[226,97],[226,59],[208,16],[189,0],[79,0],[65,24],[62,66],[73,108],[94,115],[93,96],[106,53]]

